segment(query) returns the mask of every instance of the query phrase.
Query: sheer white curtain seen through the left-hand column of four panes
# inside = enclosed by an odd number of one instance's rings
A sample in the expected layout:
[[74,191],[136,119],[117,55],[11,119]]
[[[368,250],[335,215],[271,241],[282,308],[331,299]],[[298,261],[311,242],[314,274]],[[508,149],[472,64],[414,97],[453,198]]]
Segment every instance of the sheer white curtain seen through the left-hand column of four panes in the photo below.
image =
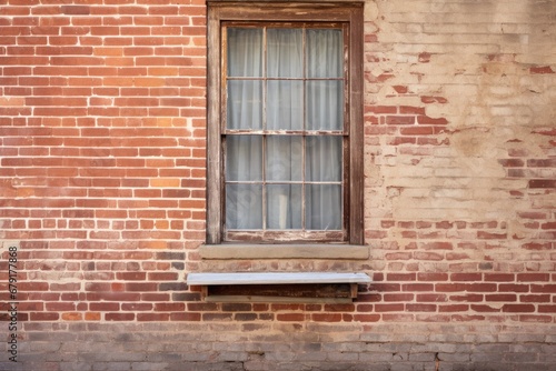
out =
[[[227,129],[262,129],[262,30],[228,29]],[[258,78],[258,79],[257,79]],[[226,225],[262,228],[262,137],[226,138]]]

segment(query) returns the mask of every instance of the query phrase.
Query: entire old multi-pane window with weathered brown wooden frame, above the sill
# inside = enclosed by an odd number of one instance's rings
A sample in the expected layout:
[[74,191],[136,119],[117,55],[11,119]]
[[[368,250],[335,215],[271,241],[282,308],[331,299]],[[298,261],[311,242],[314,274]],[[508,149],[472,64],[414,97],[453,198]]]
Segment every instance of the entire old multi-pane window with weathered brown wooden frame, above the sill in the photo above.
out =
[[209,2],[208,243],[363,243],[361,14]]

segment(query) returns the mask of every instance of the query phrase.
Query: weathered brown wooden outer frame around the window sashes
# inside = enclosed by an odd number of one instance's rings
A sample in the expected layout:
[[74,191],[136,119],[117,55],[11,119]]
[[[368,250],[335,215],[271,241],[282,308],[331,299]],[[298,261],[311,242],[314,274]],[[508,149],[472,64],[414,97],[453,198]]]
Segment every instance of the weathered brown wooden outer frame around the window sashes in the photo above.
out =
[[[224,240],[224,159],[221,111],[221,26],[224,22],[341,22],[348,30],[348,142],[344,159],[347,192],[344,197],[344,241],[330,243],[364,244],[364,172],[363,172],[363,2],[208,2],[208,81],[207,81],[207,243]],[[267,235],[272,235],[271,232]],[[291,238],[257,240],[256,243],[284,243]],[[297,241],[299,242],[299,241]],[[319,241],[320,243],[322,241]],[[304,243],[314,243],[304,241]]]

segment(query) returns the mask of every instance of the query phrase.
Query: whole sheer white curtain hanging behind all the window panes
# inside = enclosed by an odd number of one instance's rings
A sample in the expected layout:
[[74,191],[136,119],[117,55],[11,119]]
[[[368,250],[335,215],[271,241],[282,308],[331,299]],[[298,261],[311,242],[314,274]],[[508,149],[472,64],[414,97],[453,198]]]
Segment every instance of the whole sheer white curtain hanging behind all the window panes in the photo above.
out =
[[315,131],[342,130],[342,53],[341,30],[228,29],[226,127],[258,132],[226,136],[227,229],[341,229],[342,139]]

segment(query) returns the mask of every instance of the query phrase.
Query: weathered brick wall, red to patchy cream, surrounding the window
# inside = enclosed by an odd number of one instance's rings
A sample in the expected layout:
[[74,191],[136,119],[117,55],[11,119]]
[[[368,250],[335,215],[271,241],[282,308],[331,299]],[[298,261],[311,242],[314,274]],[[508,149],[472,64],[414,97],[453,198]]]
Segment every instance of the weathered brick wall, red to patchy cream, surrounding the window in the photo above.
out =
[[[370,259],[202,261],[205,2],[3,1],[0,369],[555,370],[555,18],[367,1]],[[199,270],[375,282],[353,304],[206,303]]]

